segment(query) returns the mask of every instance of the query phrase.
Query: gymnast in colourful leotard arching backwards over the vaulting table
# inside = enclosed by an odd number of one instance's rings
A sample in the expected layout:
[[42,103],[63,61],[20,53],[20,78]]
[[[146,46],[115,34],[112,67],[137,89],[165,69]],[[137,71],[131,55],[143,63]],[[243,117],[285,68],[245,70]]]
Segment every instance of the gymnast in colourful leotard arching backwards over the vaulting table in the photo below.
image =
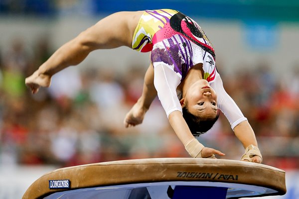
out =
[[78,65],[90,52],[120,46],[150,52],[143,93],[127,113],[126,127],[142,123],[152,100],[158,96],[189,155],[215,158],[215,154],[225,154],[204,147],[195,137],[212,127],[221,110],[245,148],[241,160],[262,162],[252,127],[223,88],[211,42],[193,19],[176,10],[111,14],[62,45],[26,78],[25,84],[35,94],[40,87],[50,86],[54,74]]

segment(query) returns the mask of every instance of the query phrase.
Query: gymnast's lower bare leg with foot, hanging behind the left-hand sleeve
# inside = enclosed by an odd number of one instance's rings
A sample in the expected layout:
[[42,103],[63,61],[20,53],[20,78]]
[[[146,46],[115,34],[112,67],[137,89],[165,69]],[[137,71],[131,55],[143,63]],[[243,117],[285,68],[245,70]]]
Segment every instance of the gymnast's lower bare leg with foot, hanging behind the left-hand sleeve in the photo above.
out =
[[152,63],[150,63],[145,75],[142,96],[127,113],[124,120],[125,127],[141,124],[146,112],[149,110],[151,102],[156,96],[157,92],[153,85],[153,66]]

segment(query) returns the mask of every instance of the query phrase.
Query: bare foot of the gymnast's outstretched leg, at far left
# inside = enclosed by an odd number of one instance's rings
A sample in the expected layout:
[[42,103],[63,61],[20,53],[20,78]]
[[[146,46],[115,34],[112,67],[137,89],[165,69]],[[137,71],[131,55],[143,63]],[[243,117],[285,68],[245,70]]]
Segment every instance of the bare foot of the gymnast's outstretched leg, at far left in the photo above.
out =
[[31,76],[25,79],[25,84],[31,89],[32,94],[38,92],[39,87],[49,87],[51,84],[51,76],[46,74],[40,74],[39,71],[35,71]]

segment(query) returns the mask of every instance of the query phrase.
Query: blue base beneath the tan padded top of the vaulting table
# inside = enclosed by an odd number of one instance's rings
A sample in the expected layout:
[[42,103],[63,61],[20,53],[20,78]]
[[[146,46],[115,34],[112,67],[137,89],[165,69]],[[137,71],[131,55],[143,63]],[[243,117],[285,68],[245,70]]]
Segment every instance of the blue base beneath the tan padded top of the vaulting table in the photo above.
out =
[[44,199],[232,199],[274,193],[277,191],[235,183],[157,182],[70,190]]

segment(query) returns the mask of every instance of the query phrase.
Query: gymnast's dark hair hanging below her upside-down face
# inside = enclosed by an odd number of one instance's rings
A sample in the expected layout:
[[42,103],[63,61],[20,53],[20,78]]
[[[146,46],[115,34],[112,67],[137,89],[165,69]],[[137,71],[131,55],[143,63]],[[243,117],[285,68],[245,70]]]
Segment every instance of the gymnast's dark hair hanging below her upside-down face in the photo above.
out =
[[214,123],[217,121],[220,113],[218,110],[215,118],[207,118],[203,120],[200,117],[192,115],[186,107],[183,107],[182,111],[183,117],[194,136],[199,136],[200,134],[204,134],[205,132],[210,130]]

